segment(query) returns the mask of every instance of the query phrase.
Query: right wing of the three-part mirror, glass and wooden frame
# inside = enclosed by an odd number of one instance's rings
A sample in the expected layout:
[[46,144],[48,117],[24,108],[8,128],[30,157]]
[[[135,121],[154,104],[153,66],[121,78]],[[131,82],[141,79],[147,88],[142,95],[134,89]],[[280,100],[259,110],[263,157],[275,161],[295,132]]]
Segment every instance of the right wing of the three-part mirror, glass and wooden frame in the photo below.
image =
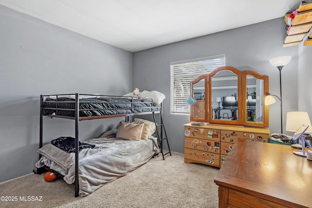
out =
[[[269,77],[254,71],[243,71],[243,123],[248,126],[267,127],[269,109],[264,96],[269,92]],[[246,100],[246,101],[245,101]]]

